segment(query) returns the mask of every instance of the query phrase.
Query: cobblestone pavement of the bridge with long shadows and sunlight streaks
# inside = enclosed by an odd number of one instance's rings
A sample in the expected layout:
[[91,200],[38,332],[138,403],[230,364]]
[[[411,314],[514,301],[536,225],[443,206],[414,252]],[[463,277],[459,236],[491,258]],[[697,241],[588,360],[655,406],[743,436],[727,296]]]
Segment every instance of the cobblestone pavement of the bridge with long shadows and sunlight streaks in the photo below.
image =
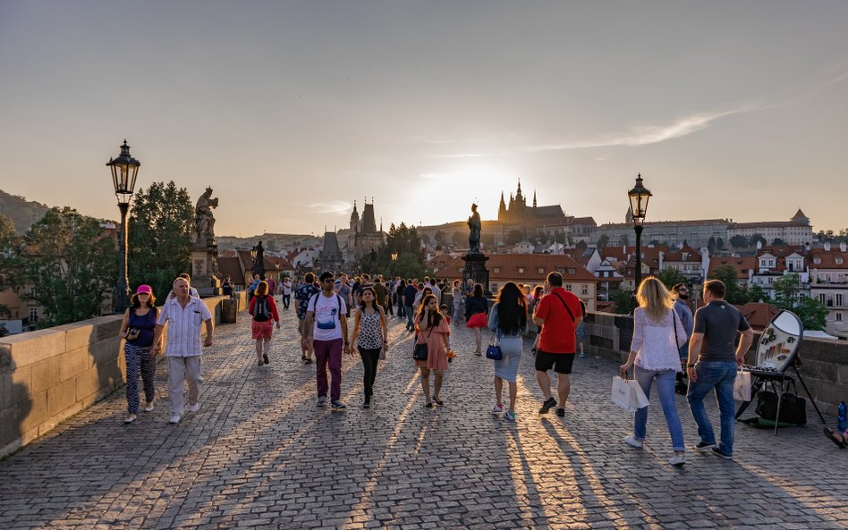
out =
[[[846,527],[848,451],[813,415],[776,437],[737,425],[733,461],[689,451],[671,467],[658,400],[645,449],[623,445],[632,415],[609,400],[614,363],[575,359],[566,416],[539,416],[525,354],[508,423],[489,412],[491,361],[454,325],[445,406],[426,409],[411,336],[391,322],[373,408],[359,407],[359,358],[345,358],[343,413],[315,406],[293,311],[270,366],[256,366],[247,319],[220,326],[197,414],[167,424],[160,365],[157,408],[136,423],[123,425],[116,392],[0,462],[0,528]],[[691,446],[682,396],[677,406]]]

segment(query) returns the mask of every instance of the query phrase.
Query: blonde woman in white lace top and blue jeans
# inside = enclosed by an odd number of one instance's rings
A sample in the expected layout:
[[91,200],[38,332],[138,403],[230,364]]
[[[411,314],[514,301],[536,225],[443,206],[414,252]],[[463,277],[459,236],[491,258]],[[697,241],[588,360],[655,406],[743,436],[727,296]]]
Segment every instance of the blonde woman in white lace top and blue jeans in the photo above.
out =
[[[626,376],[626,372],[634,368],[636,381],[649,398],[651,384],[656,380],[659,402],[666,415],[674,450],[674,457],[668,462],[673,466],[682,466],[685,463],[685,448],[683,426],[674,404],[674,378],[680,371],[678,347],[686,341],[686,331],[674,313],[674,299],[657,278],[650,277],[642,281],[636,299],[640,307],[633,312],[630,357],[621,366],[621,371]],[[641,448],[647,425],[648,407],[643,407],[636,411],[633,435],[625,438],[624,442]]]

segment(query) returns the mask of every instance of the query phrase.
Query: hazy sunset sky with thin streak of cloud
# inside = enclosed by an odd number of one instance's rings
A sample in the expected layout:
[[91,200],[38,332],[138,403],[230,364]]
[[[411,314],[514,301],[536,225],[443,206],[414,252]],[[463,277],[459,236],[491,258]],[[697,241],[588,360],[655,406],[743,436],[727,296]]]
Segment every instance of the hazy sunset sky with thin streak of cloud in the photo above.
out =
[[105,166],[216,235],[497,215],[848,227],[848,2],[0,1],[0,189],[115,219]]

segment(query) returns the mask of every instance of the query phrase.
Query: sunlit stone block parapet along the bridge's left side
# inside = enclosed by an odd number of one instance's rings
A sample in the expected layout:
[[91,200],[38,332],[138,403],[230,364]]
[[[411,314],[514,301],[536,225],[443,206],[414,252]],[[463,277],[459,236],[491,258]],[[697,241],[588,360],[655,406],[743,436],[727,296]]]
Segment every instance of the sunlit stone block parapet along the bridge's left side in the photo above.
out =
[[[244,310],[246,294],[239,294]],[[223,299],[204,299],[216,325]],[[0,339],[0,457],[123,386],[121,318],[99,316]]]

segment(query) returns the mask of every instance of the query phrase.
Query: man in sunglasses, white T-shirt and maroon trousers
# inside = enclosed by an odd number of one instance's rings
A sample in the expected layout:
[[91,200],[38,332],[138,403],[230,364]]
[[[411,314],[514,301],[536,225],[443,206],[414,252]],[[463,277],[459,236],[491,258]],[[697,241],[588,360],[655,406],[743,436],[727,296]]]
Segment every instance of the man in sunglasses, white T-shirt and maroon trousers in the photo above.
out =
[[[330,404],[334,410],[344,410],[342,399],[342,353],[353,355],[347,334],[347,305],[333,290],[333,273],[322,273],[321,292],[312,295],[306,309],[305,329],[308,335],[301,346],[312,342],[315,350],[315,378],[318,383],[318,407],[326,403],[326,366],[330,366],[333,383]],[[313,327],[313,323],[315,324]]]

